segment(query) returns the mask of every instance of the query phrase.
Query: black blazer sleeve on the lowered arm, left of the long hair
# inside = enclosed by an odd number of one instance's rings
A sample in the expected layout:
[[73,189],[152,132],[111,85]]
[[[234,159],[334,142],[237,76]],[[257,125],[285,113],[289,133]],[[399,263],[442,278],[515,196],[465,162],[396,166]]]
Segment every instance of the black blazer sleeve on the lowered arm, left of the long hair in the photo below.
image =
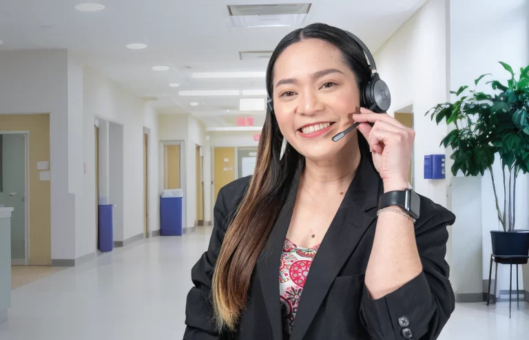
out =
[[187,294],[185,306],[184,340],[213,340],[220,339],[216,329],[211,300],[211,281],[229,221],[225,195],[221,189],[214,206],[214,227],[209,240],[207,251],[200,257],[191,269],[191,281],[194,287]]

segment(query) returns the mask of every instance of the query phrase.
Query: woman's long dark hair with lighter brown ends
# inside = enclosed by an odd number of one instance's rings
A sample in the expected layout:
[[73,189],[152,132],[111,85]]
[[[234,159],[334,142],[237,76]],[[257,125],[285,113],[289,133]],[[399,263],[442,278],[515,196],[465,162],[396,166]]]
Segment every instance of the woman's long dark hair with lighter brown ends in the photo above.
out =
[[[344,30],[313,23],[287,34],[273,51],[267,68],[267,90],[271,96],[273,67],[278,57],[287,47],[304,39],[320,39],[335,45],[342,52],[344,63],[355,74],[359,89],[369,80],[371,70],[362,47]],[[360,149],[369,155],[368,143],[362,134],[357,135]],[[215,318],[220,329],[235,330],[240,313],[247,304],[253,268],[267,244],[296,171],[304,167],[304,157],[291,146],[287,147],[284,158],[279,159],[282,139],[276,116],[267,110],[258,145],[256,169],[229,225],[214,271],[212,293]]]

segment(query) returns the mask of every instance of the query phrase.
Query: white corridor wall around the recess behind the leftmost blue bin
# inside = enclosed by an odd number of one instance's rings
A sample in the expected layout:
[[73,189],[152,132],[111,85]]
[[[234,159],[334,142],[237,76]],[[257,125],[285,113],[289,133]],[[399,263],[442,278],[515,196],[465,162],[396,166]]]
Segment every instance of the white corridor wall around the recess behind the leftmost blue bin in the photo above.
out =
[[[90,173],[85,176],[85,209],[90,213],[95,209],[94,198],[94,115],[105,120],[123,125],[123,240],[143,233],[143,127],[150,129],[152,139],[157,140],[156,111],[149,107],[143,100],[125,92],[118,84],[114,83],[89,67],[84,67],[83,94],[85,114],[85,162]],[[90,123],[92,122],[92,123]],[[91,134],[88,131],[92,131]],[[153,147],[149,154],[151,159],[148,172],[149,226],[152,230],[159,229],[158,206],[158,149]],[[110,204],[113,204],[112,197]],[[85,228],[92,228],[93,224]],[[154,229],[156,228],[156,229]],[[91,242],[88,240],[88,242]]]

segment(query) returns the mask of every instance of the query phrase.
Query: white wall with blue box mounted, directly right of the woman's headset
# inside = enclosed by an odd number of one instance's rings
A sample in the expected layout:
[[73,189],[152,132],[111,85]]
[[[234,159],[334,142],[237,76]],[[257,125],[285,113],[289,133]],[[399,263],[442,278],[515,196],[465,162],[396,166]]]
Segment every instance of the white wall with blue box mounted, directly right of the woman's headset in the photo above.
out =
[[424,155],[445,153],[439,142],[446,125],[424,117],[446,101],[445,0],[431,0],[375,52],[381,78],[391,89],[393,111],[413,104],[415,190],[446,206],[446,180],[424,180]]

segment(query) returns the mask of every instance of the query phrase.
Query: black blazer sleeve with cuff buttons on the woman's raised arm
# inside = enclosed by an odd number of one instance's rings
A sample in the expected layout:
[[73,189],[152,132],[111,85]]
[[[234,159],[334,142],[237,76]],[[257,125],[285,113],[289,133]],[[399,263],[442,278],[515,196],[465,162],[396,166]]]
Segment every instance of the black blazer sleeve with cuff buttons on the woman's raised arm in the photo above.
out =
[[415,239],[422,273],[393,293],[373,300],[364,286],[360,312],[362,323],[377,340],[433,340],[455,308],[444,257],[448,231],[455,215],[444,208],[434,209],[426,222],[415,226]]

